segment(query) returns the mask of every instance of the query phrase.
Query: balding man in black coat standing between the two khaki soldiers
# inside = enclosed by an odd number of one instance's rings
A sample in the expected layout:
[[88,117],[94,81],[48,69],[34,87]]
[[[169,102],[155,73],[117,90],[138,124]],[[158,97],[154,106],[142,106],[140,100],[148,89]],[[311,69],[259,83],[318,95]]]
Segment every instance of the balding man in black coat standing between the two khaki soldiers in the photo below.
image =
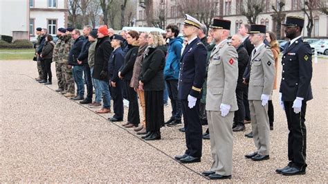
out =
[[238,110],[235,111],[235,118],[233,119],[233,131],[244,131],[245,107],[244,107],[244,88],[246,84],[243,83],[243,75],[248,64],[248,53],[242,42],[242,35],[236,34],[231,37],[230,44],[233,45],[238,53],[238,80],[236,88],[236,97]]

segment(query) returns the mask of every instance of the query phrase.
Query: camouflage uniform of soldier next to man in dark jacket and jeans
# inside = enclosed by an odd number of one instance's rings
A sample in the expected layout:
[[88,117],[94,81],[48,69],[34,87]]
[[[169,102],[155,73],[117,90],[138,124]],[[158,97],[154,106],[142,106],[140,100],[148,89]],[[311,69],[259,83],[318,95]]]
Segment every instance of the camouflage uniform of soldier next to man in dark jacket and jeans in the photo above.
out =
[[71,35],[65,35],[58,50],[58,64],[62,65],[62,78],[64,80],[64,90],[66,91],[66,93],[75,93],[75,84],[73,79],[72,68],[68,67],[69,50],[71,50],[71,43]]

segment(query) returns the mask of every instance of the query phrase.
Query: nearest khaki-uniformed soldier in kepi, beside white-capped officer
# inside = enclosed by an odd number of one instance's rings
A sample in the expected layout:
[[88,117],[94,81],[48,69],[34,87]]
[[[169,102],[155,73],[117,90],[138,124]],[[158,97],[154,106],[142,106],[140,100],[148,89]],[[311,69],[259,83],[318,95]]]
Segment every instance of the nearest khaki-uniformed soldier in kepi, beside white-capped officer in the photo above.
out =
[[214,19],[212,37],[215,48],[210,54],[206,93],[206,111],[213,158],[210,171],[202,174],[210,179],[231,178],[233,171],[233,117],[237,111],[237,51],[228,44],[231,22]]

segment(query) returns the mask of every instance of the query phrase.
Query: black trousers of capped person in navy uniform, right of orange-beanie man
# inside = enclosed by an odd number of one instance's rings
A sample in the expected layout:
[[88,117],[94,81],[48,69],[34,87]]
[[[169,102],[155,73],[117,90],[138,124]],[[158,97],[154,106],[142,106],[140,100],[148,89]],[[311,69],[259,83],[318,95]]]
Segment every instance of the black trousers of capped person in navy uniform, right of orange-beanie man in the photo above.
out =
[[122,81],[116,81],[116,87],[111,86],[111,99],[113,99],[113,118],[123,119],[124,107],[122,96]]

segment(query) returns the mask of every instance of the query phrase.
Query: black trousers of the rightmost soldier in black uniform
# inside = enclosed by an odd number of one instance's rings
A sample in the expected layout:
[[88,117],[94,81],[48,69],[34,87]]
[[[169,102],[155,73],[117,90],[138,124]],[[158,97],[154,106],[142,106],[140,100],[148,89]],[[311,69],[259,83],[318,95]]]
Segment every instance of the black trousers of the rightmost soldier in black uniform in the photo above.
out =
[[293,167],[304,170],[307,167],[307,127],[305,127],[305,112],[307,102],[302,102],[300,113],[294,113],[293,102],[284,102],[289,135],[288,159]]

